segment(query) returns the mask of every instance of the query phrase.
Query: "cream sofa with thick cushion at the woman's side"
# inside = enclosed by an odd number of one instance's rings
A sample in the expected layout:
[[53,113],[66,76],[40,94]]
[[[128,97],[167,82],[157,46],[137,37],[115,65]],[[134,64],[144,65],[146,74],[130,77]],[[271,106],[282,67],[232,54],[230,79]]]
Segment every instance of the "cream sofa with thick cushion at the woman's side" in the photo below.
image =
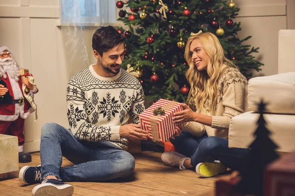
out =
[[[229,128],[229,147],[247,148],[255,139],[259,114],[256,103],[263,98],[268,104],[264,114],[266,127],[277,151],[295,150],[295,30],[279,32],[279,74],[249,80],[248,105],[250,112],[232,118]],[[263,145],[263,144],[262,144]]]

